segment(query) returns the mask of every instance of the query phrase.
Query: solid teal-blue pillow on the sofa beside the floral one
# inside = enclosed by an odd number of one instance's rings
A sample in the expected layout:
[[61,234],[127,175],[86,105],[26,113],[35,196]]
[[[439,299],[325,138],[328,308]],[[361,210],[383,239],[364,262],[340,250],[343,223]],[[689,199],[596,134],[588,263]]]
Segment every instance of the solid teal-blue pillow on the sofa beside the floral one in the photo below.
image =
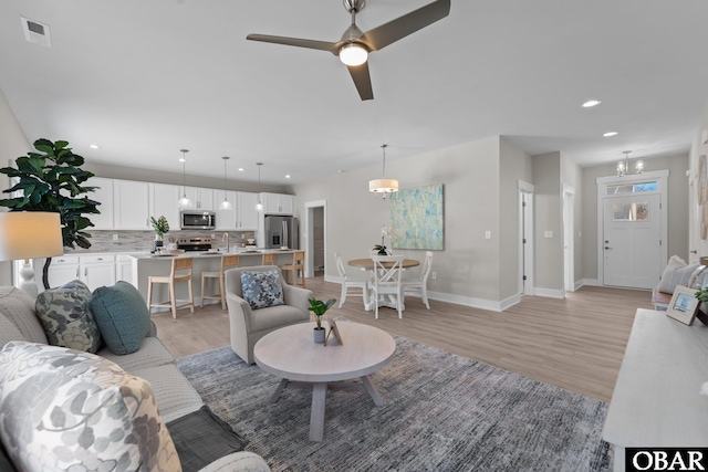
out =
[[101,337],[118,356],[135,353],[150,331],[150,314],[143,295],[125,281],[96,289],[91,311]]

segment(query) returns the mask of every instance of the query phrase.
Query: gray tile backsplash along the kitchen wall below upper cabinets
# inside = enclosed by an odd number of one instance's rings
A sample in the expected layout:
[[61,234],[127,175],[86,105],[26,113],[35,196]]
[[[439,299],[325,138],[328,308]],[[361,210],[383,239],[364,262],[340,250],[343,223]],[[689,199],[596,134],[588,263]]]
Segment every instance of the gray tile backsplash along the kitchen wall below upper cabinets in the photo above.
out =
[[[205,231],[205,230],[185,230],[185,231],[170,231],[165,234],[165,242],[169,237],[180,239],[180,238],[192,238],[192,237],[207,237],[210,238],[211,234],[216,235],[216,239],[212,241],[212,248],[223,248],[226,244],[222,241],[222,235],[225,232],[229,234],[229,244],[233,247],[235,244],[240,244],[241,235],[243,238],[254,238],[253,231]],[[81,253],[81,252],[149,252],[153,247],[153,240],[155,240],[154,231],[91,231],[88,229],[88,233],[91,238],[91,248],[81,249],[76,247],[76,249],[64,248],[64,253]],[[117,234],[117,241],[113,240],[113,235]]]

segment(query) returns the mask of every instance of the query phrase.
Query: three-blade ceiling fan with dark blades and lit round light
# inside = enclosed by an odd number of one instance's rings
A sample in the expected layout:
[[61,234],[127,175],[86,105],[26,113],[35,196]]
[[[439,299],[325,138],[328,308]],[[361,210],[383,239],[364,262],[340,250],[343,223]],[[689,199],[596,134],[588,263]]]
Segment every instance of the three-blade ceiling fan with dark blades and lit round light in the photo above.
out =
[[346,64],[362,101],[365,101],[374,98],[368,63],[366,62],[368,53],[384,49],[388,44],[415,33],[450,13],[450,0],[437,0],[364,33],[356,27],[356,13],[362,11],[366,0],[343,1],[346,11],[352,13],[352,25],[344,31],[342,39],[335,43],[299,38],[271,36],[269,34],[249,34],[246,39],[331,52]]

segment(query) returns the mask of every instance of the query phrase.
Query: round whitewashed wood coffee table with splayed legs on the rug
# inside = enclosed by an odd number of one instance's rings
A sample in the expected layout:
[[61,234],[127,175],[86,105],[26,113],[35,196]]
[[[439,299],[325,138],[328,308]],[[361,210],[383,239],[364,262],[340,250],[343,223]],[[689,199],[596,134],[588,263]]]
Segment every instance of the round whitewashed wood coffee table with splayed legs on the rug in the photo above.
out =
[[[287,386],[312,389],[310,440],[322,441],[327,389],[366,390],[376,406],[384,403],[368,375],[388,364],[396,342],[373,326],[339,322],[342,344],[331,335],[324,346],[312,339],[314,326],[301,323],[267,334],[256,343],[253,357],[261,369],[283,379],[271,397],[273,402]],[[330,328],[327,322],[322,327]],[[362,382],[344,381],[356,378]]]

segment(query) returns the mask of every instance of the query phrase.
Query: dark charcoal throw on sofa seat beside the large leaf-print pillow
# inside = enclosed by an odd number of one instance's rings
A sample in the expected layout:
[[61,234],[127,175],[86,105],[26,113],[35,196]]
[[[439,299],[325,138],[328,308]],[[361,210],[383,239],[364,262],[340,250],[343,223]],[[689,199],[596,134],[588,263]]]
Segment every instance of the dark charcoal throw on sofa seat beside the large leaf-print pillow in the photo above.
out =
[[167,423],[184,472],[197,472],[225,455],[242,451],[248,444],[226,421],[206,405]]

